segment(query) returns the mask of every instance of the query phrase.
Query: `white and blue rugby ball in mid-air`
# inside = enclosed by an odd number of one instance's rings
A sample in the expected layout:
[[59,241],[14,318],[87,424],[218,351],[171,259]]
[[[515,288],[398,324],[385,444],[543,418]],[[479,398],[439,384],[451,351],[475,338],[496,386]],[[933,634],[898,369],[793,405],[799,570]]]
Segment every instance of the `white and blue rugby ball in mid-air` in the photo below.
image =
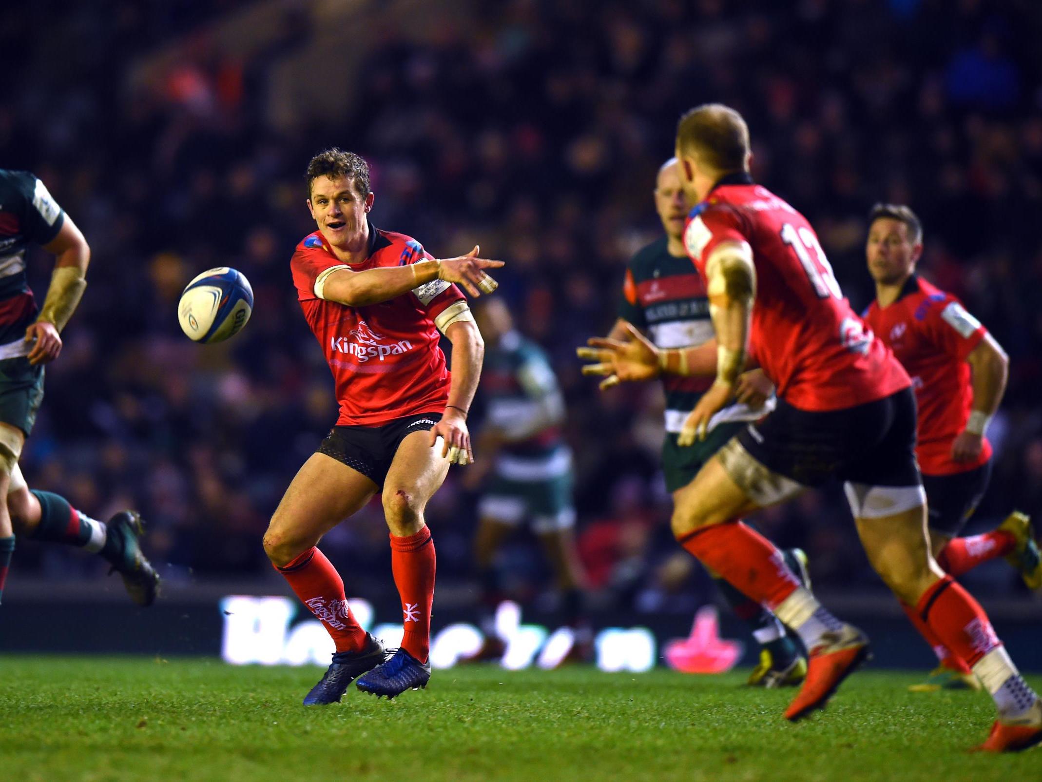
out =
[[242,272],[219,266],[188,284],[177,304],[177,320],[189,339],[212,344],[239,334],[252,312],[249,280]]

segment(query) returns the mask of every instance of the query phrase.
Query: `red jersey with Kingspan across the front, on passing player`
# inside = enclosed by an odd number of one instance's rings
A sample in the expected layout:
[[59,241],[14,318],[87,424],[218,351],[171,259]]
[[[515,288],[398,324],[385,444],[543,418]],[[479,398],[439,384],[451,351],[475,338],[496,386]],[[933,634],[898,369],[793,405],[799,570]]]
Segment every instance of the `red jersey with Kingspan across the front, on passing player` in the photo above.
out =
[[320,231],[297,245],[290,262],[304,319],[322,346],[337,386],[338,425],[378,426],[418,413],[441,413],[449,370],[435,318],[464,298],[454,285],[435,280],[390,301],[347,307],[315,294],[318,276],[344,266],[354,271],[404,266],[429,259],[415,239],[369,224],[369,255],[344,264]]

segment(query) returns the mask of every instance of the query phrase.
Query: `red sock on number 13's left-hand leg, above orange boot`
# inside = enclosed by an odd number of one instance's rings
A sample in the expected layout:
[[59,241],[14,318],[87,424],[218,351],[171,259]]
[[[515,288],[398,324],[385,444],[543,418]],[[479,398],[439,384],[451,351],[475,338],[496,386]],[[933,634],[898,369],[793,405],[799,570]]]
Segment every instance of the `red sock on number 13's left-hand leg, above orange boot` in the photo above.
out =
[[771,610],[799,586],[782,552],[741,521],[703,527],[677,542],[746,597]]

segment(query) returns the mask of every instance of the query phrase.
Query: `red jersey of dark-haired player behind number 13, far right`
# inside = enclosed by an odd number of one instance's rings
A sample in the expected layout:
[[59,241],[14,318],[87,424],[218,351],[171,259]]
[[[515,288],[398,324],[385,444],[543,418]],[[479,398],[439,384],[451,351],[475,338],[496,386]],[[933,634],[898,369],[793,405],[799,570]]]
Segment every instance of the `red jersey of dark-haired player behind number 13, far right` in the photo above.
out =
[[880,308],[875,301],[869,304],[865,322],[912,375],[919,405],[916,457],[923,473],[965,472],[991,459],[988,438],[975,461],[951,459],[951,443],[966,429],[973,407],[966,357],[981,344],[988,329],[963,309],[958,298],[915,274],[890,307]]

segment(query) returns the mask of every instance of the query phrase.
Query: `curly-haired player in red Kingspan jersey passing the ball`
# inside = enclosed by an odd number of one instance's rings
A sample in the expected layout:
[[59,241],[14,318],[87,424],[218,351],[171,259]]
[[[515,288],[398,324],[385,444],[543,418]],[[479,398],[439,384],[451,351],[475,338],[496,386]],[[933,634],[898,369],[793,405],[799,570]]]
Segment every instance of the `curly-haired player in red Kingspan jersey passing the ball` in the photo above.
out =
[[[476,258],[477,247],[437,261],[415,239],[375,228],[369,166],[356,154],[320,152],[307,165],[306,181],[318,230],[297,245],[290,267],[304,319],[332,372],[340,417],[287,489],[264,547],[336,644],[304,704],[340,701],[355,679],[364,691],[394,698],[430,679],[435,546],[424,508],[450,463],[474,460],[467,413],[483,344],[453,284],[472,296],[491,292],[495,283],[482,269],[502,263]],[[439,332],[452,343],[451,375]],[[316,547],[377,492],[404,629],[401,647],[387,661],[380,641],[355,620],[340,575]]]

